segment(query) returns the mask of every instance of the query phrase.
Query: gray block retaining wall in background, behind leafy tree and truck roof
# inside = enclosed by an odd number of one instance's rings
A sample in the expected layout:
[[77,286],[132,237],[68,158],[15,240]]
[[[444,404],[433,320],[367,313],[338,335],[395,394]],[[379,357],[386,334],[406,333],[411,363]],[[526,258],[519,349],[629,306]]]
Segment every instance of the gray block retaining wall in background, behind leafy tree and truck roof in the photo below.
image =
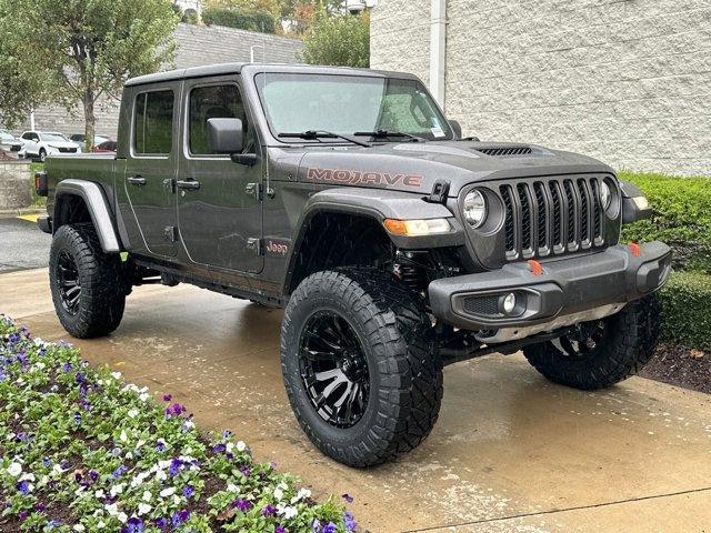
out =
[[[226,63],[250,60],[250,47],[254,49],[256,61],[276,63],[294,63],[299,61],[299,53],[303,43],[296,39],[280,36],[256,33],[213,26],[210,28],[179,24],[176,29],[176,60],[171,68],[184,69],[203,64]],[[119,119],[119,100],[102,99],[97,108],[97,133],[116,138]],[[1,125],[1,122],[0,122]],[[67,134],[83,133],[83,112],[77,109],[67,113],[63,108],[41,107],[34,112],[34,125],[38,130],[57,130]],[[16,132],[30,128],[29,119]]]

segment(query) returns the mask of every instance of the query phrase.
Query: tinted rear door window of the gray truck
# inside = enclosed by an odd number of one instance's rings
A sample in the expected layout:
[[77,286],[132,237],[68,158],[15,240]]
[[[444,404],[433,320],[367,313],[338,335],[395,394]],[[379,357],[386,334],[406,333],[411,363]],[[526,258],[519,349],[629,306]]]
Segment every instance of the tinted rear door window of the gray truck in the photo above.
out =
[[167,155],[173,144],[173,91],[142,92],[136,97],[133,150]]

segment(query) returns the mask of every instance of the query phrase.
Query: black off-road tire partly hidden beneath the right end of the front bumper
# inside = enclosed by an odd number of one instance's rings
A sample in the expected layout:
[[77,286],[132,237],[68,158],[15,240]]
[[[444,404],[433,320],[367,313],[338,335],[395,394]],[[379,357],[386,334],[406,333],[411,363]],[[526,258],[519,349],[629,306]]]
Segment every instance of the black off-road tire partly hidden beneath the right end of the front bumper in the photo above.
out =
[[652,358],[660,328],[654,294],[604,319],[602,340],[581,358],[570,358],[551,341],[523,349],[529,362],[549,380],[580,390],[611,386],[637,374]]

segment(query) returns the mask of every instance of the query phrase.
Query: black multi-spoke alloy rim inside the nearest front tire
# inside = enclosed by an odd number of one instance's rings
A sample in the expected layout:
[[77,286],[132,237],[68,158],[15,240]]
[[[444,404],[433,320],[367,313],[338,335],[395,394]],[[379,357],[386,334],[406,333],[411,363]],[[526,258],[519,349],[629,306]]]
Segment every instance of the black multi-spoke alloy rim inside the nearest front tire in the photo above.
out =
[[336,428],[352,428],[368,406],[368,360],[348,321],[317,311],[299,340],[299,369],[311,405]]

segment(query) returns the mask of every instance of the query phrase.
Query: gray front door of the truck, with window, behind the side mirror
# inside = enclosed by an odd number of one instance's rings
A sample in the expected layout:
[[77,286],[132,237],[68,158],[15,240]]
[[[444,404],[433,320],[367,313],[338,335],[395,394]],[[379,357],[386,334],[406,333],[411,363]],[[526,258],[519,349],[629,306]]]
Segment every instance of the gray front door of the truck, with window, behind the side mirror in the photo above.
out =
[[178,225],[188,259],[206,266],[260,272],[262,209],[250,183],[261,183],[261,165],[242,165],[210,153],[208,120],[240,119],[244,153],[258,150],[238,76],[186,81],[183,143],[178,175]]

